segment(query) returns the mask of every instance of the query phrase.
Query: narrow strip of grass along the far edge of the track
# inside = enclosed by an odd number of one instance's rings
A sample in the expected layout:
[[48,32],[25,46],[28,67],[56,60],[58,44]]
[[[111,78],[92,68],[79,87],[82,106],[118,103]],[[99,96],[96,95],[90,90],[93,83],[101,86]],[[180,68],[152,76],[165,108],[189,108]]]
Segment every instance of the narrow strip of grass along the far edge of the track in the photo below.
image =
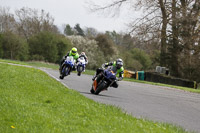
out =
[[[39,61],[22,62],[22,61],[0,59],[0,62],[29,65],[29,66],[35,66],[35,67],[46,67],[46,68],[51,68],[51,69],[54,69],[54,70],[59,69],[58,64],[39,62]],[[83,74],[94,75],[95,71],[94,70],[86,70],[85,72],[83,72]],[[138,83],[144,83],[144,84],[158,85],[158,86],[167,86],[167,87],[181,89],[181,90],[189,91],[189,92],[193,92],[193,93],[200,93],[200,86],[198,86],[198,89],[192,89],[192,88],[181,87],[181,86],[174,86],[174,85],[168,85],[168,84],[161,84],[161,83],[154,83],[154,82],[136,80],[136,79],[132,79],[132,78],[124,78],[123,80],[124,81],[130,81],[130,82],[138,82]]]

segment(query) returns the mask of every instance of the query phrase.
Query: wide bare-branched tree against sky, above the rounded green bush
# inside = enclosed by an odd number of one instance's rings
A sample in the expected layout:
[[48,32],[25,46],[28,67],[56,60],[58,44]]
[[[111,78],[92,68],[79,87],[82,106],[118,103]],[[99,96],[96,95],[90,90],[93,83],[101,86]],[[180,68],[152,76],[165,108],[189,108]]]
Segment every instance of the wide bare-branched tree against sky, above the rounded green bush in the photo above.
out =
[[59,33],[54,25],[54,18],[44,10],[38,11],[31,8],[21,8],[15,11],[18,34],[24,36],[27,40],[40,32]]

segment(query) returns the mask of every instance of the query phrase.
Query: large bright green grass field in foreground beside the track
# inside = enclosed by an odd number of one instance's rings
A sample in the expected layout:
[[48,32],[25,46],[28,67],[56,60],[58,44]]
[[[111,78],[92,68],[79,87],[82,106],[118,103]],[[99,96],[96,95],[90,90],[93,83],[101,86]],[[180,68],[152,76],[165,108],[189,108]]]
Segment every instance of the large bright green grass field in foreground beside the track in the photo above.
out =
[[183,133],[136,119],[64,87],[46,73],[0,64],[0,133]]

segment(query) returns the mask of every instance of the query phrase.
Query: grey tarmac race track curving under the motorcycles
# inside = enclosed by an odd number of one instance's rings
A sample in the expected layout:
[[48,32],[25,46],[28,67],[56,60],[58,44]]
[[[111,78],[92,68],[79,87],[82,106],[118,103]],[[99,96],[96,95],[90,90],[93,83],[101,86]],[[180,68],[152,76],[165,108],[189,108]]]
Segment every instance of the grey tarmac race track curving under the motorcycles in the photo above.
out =
[[169,87],[135,82],[119,82],[118,88],[108,88],[99,95],[90,93],[91,75],[75,73],[59,79],[57,70],[42,68],[47,74],[70,89],[97,102],[115,105],[137,118],[167,122],[181,126],[187,131],[200,133],[200,94]]

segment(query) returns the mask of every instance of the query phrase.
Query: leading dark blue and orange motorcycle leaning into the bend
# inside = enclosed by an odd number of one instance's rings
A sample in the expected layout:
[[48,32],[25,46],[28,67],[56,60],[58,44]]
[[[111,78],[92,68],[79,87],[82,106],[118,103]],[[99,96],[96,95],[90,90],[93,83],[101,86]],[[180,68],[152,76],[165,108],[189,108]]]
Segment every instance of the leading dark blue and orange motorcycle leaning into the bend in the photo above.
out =
[[109,86],[112,86],[114,82],[116,82],[116,73],[110,68],[104,69],[94,79],[90,92],[98,95],[101,91],[107,90]]

